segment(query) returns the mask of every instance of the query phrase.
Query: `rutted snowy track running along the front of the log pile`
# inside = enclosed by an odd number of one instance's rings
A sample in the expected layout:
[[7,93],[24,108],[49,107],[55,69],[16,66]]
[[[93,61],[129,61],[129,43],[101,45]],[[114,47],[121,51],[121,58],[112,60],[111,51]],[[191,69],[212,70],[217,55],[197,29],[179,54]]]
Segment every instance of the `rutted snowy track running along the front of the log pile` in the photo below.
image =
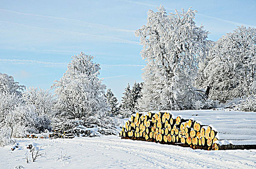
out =
[[[227,168],[238,168],[246,166],[254,168],[255,166],[248,163],[226,160],[225,156],[220,157],[218,153],[192,150],[173,145],[156,144],[152,142],[119,140],[119,139],[99,139],[83,140],[95,143],[100,146],[121,150],[125,153],[136,155],[150,162],[154,167],[160,168],[225,168],[223,163],[227,163]],[[221,152],[219,152],[221,153]],[[223,152],[224,153],[224,152]],[[224,153],[225,154],[225,153]],[[233,156],[230,153],[229,156]],[[235,156],[237,157],[237,156]],[[173,164],[175,166],[170,166]]]

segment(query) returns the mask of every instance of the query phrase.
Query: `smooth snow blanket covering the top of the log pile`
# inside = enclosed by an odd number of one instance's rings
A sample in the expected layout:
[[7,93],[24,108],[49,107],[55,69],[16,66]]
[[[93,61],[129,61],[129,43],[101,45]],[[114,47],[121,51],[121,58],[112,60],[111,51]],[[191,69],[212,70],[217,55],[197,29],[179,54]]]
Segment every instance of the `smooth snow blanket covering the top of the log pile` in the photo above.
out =
[[[211,126],[217,131],[217,143],[232,143],[236,145],[256,144],[256,113],[227,110],[184,110],[161,111],[171,113],[173,118],[193,118],[201,125]],[[151,111],[158,113],[158,111]],[[222,141],[223,140],[223,141]]]

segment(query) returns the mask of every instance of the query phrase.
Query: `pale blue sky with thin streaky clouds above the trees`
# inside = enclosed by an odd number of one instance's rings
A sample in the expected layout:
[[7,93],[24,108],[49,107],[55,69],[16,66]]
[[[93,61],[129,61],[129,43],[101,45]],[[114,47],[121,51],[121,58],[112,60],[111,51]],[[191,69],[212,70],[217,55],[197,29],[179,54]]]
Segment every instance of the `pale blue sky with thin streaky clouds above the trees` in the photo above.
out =
[[212,41],[237,26],[256,27],[256,0],[0,0],[0,72],[49,89],[83,51],[95,56],[100,78],[120,100],[127,83],[143,81],[134,32],[160,4],[167,13],[192,6]]

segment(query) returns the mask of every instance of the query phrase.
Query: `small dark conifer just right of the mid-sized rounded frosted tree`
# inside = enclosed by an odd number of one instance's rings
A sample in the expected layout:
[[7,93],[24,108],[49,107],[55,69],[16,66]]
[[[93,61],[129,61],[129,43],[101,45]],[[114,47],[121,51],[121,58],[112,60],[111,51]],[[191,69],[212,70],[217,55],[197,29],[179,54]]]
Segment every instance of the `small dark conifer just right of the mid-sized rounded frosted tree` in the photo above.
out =
[[111,89],[107,89],[106,94],[105,94],[105,98],[106,98],[106,102],[110,107],[110,111],[109,114],[111,116],[115,116],[119,113],[119,106],[118,106],[118,100],[115,97],[115,95],[113,94],[113,92],[111,91]]

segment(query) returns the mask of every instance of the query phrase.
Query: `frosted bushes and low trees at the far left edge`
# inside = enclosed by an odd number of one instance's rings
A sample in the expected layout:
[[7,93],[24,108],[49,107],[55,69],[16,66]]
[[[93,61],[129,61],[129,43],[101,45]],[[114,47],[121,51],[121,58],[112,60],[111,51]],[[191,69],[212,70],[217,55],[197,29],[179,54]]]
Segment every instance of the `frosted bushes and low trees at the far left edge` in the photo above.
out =
[[49,90],[29,87],[0,73],[0,146],[12,143],[12,138],[50,130],[55,97]]

